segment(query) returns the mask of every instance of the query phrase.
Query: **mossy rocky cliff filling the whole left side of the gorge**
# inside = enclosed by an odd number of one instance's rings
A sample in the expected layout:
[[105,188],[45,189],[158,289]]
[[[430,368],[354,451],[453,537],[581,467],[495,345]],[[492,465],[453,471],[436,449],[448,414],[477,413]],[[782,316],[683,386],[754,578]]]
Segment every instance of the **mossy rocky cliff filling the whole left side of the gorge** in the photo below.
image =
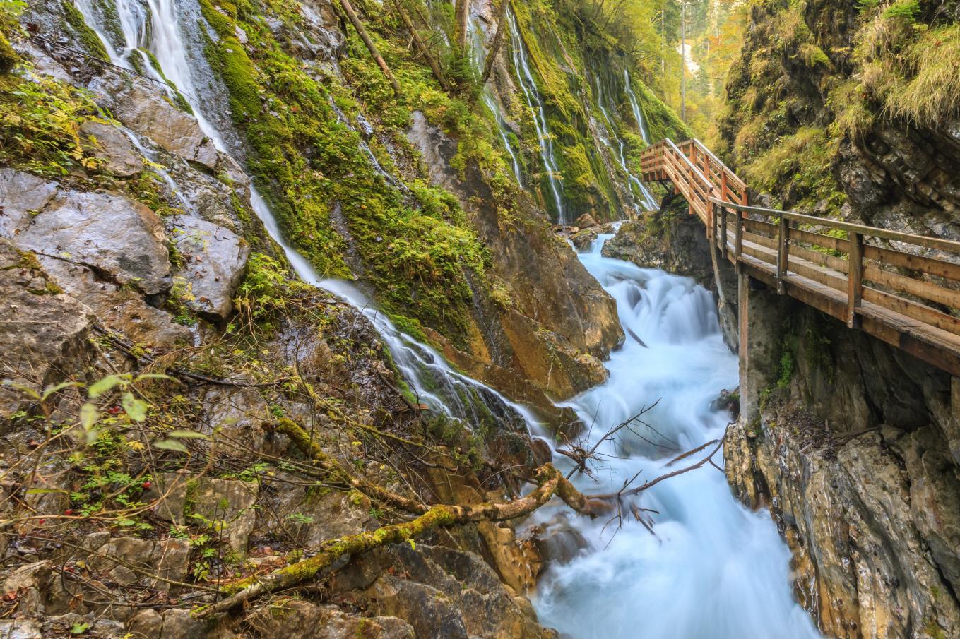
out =
[[[0,1],[3,632],[555,636],[523,597],[539,559],[509,522],[345,554],[202,619],[229,584],[424,504],[516,496],[533,478],[512,469],[549,451],[460,371],[560,422],[548,397],[604,379],[622,339],[554,234],[543,187],[560,176],[533,132],[563,130],[562,206],[636,210],[636,157],[601,140],[583,58],[563,55],[576,33],[517,8],[535,113],[510,44],[487,93],[439,40],[440,77],[410,55],[402,10],[355,3],[366,42],[348,6]],[[453,36],[444,8],[407,11]],[[492,7],[471,12],[489,45]],[[642,127],[632,105],[678,126],[623,51],[604,55],[620,64],[604,140]],[[370,497],[388,492],[404,497]]]

